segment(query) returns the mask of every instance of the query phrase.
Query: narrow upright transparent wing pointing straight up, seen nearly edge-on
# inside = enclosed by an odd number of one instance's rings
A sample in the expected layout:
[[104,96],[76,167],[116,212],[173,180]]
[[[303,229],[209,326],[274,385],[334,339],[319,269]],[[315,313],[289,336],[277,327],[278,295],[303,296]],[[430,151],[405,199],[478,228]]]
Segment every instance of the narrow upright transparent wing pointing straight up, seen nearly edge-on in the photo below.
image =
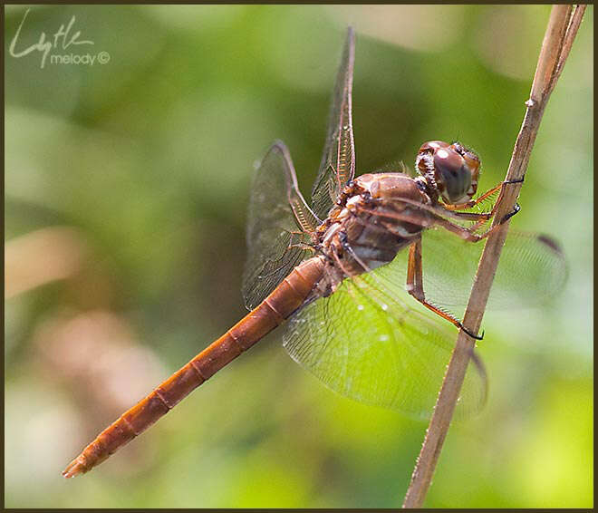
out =
[[355,34],[350,27],[336,76],[333,104],[322,162],[312,190],[312,208],[324,219],[345,184],[355,175],[355,145],[352,126],[352,83],[355,62]]

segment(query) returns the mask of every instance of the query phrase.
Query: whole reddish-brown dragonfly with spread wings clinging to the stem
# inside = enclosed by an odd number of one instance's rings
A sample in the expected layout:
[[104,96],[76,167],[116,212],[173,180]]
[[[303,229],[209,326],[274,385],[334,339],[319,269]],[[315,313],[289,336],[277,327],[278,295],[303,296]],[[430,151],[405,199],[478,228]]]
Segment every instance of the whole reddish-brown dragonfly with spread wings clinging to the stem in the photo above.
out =
[[[354,54],[349,28],[311,203],[283,142],[275,141],[256,169],[242,286],[249,314],[101,431],[64,477],[106,460],[281,324],[290,356],[333,391],[429,416],[453,326],[465,330],[454,312],[467,304],[482,246],[475,243],[516,213],[492,227],[496,199],[511,184],[473,199],[477,154],[439,140],[420,147],[415,177],[401,169],[355,178]],[[552,238],[511,230],[495,280],[497,302],[534,304],[555,294],[565,271]],[[477,352],[470,362],[458,403],[464,414],[478,411],[487,397]]]

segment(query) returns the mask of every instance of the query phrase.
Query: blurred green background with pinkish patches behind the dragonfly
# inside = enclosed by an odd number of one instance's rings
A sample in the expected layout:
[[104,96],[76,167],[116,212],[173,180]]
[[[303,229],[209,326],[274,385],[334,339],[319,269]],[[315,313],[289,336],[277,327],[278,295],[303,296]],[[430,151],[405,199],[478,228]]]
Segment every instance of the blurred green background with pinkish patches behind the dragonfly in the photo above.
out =
[[[279,335],[92,473],[61,470],[234,324],[252,166],[285,140],[304,191],[347,24],[358,173],[462,140],[505,174],[548,6],[33,6],[8,54],[5,506],[397,507],[426,424],[327,390]],[[104,54],[104,58],[106,55]],[[511,226],[564,245],[543,308],[487,312],[490,395],[455,423],[428,507],[593,505],[593,7],[548,104]],[[455,333],[457,334],[457,332]]]

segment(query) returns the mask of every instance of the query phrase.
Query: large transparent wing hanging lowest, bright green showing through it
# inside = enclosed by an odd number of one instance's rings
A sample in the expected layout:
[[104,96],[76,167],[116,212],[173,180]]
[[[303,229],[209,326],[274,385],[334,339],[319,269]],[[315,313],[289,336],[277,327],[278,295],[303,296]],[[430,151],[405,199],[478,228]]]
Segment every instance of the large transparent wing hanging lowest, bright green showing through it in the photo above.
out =
[[[400,302],[394,266],[345,279],[329,297],[299,310],[287,324],[291,357],[335,392],[354,400],[426,418],[432,412],[457,339],[434,315]],[[487,380],[477,357],[469,365],[460,415],[486,401]]]

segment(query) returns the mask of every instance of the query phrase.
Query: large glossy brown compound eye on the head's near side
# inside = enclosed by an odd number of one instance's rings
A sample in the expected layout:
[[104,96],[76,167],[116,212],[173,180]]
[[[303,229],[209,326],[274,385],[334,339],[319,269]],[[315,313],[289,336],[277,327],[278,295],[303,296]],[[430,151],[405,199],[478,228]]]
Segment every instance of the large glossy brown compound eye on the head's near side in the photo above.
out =
[[457,151],[440,148],[434,154],[436,180],[443,200],[457,205],[468,200],[472,170]]

